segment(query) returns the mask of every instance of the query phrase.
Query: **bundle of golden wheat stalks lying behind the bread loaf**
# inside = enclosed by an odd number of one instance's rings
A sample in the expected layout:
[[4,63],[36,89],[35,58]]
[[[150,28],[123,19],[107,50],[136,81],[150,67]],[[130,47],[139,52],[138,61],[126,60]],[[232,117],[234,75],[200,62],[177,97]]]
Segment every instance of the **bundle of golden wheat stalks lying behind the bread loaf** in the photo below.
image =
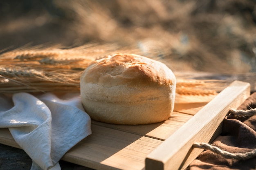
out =
[[[17,49],[0,55],[0,93],[79,92],[80,76],[94,60],[112,53],[137,53],[136,48],[88,44],[71,49]],[[176,93],[213,95],[204,81],[179,80]]]

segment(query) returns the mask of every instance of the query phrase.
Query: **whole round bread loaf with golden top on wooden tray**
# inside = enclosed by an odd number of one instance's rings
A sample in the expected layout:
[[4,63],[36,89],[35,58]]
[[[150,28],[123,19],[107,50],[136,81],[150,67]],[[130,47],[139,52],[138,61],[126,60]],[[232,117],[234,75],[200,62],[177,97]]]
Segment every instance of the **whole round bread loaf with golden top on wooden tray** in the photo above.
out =
[[171,116],[175,75],[162,62],[135,54],[96,60],[80,78],[85,111],[111,124],[151,124]]

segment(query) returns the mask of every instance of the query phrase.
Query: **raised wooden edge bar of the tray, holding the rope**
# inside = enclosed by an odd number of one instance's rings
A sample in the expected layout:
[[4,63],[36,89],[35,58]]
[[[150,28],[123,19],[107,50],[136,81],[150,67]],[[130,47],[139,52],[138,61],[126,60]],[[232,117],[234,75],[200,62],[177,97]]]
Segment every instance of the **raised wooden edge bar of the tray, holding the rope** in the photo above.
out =
[[230,108],[237,108],[250,95],[250,84],[231,83],[146,158],[146,170],[180,170],[202,152],[194,142],[211,142],[221,132]]

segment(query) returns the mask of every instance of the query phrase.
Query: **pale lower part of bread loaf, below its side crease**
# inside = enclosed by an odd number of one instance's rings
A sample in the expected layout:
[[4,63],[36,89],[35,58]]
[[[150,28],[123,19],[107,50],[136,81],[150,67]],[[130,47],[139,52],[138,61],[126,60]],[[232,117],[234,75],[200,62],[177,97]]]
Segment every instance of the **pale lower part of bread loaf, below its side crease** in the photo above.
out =
[[146,101],[137,103],[109,103],[83,99],[85,111],[96,121],[110,124],[152,124],[171,116],[170,101]]

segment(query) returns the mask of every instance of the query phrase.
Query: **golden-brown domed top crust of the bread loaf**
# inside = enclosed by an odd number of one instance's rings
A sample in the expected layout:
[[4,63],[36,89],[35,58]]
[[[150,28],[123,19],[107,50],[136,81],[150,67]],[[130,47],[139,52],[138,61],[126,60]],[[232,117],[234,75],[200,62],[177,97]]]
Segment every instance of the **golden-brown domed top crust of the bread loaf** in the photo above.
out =
[[173,84],[172,78],[163,63],[134,54],[116,54],[95,61],[84,77],[86,82],[106,86],[170,85]]

